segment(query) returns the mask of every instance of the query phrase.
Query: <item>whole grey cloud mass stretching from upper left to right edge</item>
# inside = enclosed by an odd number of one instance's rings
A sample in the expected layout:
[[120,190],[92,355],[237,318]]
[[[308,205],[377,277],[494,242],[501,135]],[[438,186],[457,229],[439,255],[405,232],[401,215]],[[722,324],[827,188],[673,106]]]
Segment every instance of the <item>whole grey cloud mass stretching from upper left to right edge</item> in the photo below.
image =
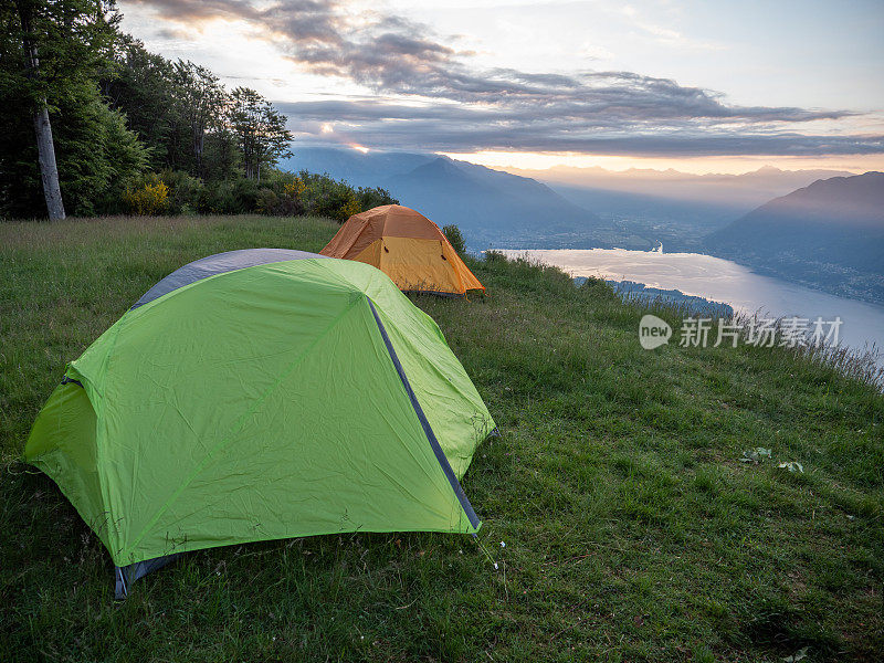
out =
[[729,105],[716,92],[624,71],[476,70],[456,41],[448,43],[424,24],[348,11],[336,0],[130,1],[173,23],[245,21],[299,67],[371,90],[377,99],[277,105],[305,133],[323,123],[344,124],[348,135],[376,147],[641,155],[884,151],[878,136],[798,130],[801,123],[854,115],[848,110]]

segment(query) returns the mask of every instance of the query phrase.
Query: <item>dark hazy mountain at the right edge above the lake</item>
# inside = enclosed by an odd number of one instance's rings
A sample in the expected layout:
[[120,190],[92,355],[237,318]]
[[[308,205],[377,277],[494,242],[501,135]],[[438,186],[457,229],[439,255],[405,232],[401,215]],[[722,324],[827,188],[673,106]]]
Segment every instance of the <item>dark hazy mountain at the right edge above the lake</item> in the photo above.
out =
[[705,246],[761,272],[884,302],[884,172],[818,180],[709,234]]

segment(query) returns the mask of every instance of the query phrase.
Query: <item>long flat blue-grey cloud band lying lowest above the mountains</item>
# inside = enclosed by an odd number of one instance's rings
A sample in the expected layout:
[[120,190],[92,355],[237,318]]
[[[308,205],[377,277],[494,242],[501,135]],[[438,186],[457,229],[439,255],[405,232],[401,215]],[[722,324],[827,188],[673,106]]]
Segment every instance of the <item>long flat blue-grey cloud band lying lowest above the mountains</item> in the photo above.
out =
[[[388,149],[469,152],[488,150],[701,157],[718,155],[870,155],[884,152],[884,136],[820,136],[793,131],[701,131],[690,125],[665,133],[625,135],[617,120],[599,117],[562,124],[530,108],[483,112],[464,106],[402,105],[376,99],[277,102],[298,118],[299,139],[311,141],[330,124],[341,143]],[[322,141],[327,141],[323,136]]]

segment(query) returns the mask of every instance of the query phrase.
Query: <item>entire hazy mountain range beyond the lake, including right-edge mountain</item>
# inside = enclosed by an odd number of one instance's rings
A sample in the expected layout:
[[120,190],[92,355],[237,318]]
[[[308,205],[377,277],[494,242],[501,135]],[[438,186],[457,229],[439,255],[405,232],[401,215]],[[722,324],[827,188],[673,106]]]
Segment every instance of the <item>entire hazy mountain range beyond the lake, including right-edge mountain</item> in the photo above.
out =
[[281,166],[389,189],[439,225],[460,227],[473,250],[646,251],[662,243],[666,252],[713,253],[834,294],[884,303],[880,172],[765,167],[701,176],[556,168],[514,175],[439,155],[334,147],[296,147]]

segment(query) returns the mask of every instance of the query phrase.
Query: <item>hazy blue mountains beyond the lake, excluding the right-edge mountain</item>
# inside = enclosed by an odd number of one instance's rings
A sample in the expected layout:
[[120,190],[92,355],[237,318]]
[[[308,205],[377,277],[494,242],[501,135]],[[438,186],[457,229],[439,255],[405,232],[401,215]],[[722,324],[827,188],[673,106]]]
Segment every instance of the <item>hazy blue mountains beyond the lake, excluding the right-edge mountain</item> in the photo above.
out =
[[[839,171],[745,175],[555,168],[505,172],[432,154],[295,147],[281,166],[389,189],[473,249],[702,251],[703,238],[776,196]],[[526,177],[527,175],[534,177]],[[547,178],[540,181],[540,178]]]

